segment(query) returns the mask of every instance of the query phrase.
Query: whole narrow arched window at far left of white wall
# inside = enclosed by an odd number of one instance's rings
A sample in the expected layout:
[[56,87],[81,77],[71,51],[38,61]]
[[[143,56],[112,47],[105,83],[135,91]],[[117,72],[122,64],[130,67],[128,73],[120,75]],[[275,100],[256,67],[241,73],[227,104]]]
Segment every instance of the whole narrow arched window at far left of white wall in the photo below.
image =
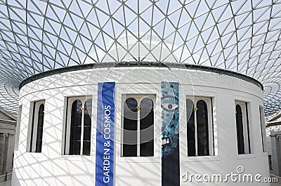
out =
[[45,101],[32,102],[32,122],[30,124],[30,135],[27,138],[27,152],[41,152],[44,126]]

